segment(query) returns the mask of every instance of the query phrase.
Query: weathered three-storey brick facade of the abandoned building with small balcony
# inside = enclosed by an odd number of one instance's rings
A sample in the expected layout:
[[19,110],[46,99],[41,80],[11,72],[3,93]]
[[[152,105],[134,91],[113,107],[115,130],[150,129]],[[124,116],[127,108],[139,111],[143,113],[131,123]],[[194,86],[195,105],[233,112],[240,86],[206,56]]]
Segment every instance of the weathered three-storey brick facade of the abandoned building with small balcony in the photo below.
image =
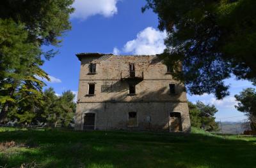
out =
[[189,132],[184,85],[156,55],[79,53],[76,129]]

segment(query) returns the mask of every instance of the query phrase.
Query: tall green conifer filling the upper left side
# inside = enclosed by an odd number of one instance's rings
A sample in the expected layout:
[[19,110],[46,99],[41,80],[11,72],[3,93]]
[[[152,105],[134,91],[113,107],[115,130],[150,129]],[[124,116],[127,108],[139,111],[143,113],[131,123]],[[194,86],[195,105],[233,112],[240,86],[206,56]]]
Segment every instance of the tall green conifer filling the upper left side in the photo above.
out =
[[[56,52],[42,45],[58,46],[70,29],[72,0],[3,0],[0,5],[0,122],[10,109],[42,97],[46,78],[40,69]],[[25,100],[31,99],[31,100]],[[18,107],[19,108],[19,107]]]

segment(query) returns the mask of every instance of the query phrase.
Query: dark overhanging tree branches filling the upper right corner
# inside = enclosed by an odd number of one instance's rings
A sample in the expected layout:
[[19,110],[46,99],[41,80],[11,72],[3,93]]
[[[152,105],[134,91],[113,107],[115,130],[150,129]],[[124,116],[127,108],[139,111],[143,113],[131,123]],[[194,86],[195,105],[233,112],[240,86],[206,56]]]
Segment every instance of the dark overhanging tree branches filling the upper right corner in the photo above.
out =
[[[228,92],[223,80],[256,81],[256,1],[254,0],[147,0],[168,32],[160,56],[177,71],[191,94]],[[182,62],[179,71],[177,62]]]

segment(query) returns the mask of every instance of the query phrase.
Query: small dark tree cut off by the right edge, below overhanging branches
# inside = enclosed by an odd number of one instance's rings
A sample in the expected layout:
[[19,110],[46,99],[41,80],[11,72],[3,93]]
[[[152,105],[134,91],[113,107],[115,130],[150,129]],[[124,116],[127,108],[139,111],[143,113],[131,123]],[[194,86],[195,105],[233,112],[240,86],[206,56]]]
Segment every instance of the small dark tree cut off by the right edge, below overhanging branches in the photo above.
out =
[[254,88],[246,88],[239,95],[235,95],[236,109],[245,113],[250,120],[252,130],[256,130],[256,92]]

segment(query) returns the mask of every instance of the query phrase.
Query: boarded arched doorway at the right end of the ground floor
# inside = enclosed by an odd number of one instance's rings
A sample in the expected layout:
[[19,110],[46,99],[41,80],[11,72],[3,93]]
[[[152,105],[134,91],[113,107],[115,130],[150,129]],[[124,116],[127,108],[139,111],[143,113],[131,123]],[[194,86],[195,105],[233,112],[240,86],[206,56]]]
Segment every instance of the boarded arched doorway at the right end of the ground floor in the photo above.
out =
[[181,116],[178,112],[170,113],[170,132],[182,131]]

